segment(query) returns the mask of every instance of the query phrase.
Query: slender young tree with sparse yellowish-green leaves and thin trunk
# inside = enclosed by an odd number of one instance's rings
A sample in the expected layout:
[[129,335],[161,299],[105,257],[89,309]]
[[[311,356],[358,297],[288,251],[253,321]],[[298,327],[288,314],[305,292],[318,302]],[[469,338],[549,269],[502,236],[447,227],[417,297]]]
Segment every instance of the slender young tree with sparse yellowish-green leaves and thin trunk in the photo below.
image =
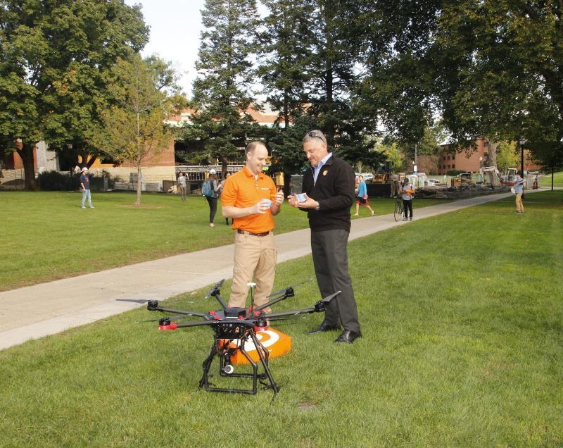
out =
[[172,139],[165,120],[175,105],[175,73],[154,56],[143,60],[134,54],[129,60],[118,60],[110,78],[115,104],[101,113],[104,132],[96,145],[118,161],[137,166],[135,206],[140,206],[142,164]]

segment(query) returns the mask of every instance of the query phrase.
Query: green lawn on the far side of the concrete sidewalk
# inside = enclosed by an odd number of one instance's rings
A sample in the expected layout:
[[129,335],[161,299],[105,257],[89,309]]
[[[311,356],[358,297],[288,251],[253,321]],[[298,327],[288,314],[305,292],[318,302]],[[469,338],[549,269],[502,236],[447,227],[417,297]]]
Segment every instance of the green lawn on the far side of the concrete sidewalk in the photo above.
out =
[[[209,227],[203,197],[183,203],[177,195],[143,194],[135,209],[132,193],[92,196],[95,209],[83,210],[80,192],[0,192],[0,291],[234,241],[220,210]],[[424,199],[415,207],[442,202]],[[377,213],[393,212],[393,199],[372,205]],[[277,233],[308,226],[305,213],[287,205],[275,220]]]

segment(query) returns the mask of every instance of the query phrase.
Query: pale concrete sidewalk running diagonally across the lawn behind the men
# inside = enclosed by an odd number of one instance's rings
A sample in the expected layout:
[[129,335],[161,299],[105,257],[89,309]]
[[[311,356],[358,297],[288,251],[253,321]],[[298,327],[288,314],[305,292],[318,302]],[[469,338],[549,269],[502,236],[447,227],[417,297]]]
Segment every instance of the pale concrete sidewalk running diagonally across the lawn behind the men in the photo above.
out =
[[[491,194],[416,209],[415,220],[510,196]],[[405,224],[396,223],[393,214],[353,220],[350,240]],[[310,254],[308,228],[275,238],[279,263]],[[0,349],[141,306],[115,299],[165,300],[231,278],[233,254],[231,244],[0,292]]]

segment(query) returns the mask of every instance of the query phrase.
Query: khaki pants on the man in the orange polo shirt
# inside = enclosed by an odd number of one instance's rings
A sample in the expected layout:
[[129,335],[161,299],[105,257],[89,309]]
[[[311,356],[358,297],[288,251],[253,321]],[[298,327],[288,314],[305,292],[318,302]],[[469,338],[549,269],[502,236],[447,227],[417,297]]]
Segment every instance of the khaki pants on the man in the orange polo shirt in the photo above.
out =
[[[248,283],[256,283],[253,294],[253,306],[265,304],[266,297],[272,292],[276,276],[277,250],[274,246],[274,234],[265,237],[236,233],[234,235],[234,268],[229,308],[246,306]],[[264,310],[270,313],[270,308]]]

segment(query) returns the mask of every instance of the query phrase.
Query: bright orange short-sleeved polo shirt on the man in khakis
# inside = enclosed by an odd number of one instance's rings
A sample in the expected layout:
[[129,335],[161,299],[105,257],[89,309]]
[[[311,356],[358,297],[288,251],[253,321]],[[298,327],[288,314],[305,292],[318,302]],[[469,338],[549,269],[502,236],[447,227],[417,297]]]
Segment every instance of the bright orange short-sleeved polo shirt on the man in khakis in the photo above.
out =
[[[238,173],[229,176],[224,182],[223,192],[221,193],[221,205],[239,207],[241,209],[252,207],[260,199],[270,199],[276,201],[276,185],[270,176],[264,173],[258,174],[258,179],[246,168]],[[248,215],[243,218],[234,218],[233,229],[246,230],[252,233],[270,232],[274,228],[274,218],[272,211],[266,213]]]

